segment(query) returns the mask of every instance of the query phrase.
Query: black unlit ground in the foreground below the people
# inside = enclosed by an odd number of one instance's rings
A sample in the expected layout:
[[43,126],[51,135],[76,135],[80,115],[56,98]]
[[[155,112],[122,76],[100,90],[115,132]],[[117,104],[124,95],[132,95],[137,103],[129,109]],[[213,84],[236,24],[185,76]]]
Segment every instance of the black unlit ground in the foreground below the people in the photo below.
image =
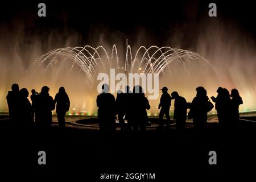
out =
[[[242,121],[236,128],[220,130],[217,124],[205,131],[148,130],[145,133],[102,135],[98,130],[67,127],[60,130],[25,130],[0,122],[0,165],[23,175],[72,176],[82,181],[101,180],[101,174],[155,173],[155,179],[122,181],[171,181],[208,175],[236,176],[255,173],[256,123]],[[38,152],[46,152],[46,165],[38,164]],[[217,165],[210,165],[209,151],[217,152]],[[33,171],[33,172],[32,172]],[[15,175],[14,175],[15,176]],[[36,180],[35,180],[36,181]],[[121,179],[119,179],[121,181]],[[208,181],[205,179],[205,181]]]

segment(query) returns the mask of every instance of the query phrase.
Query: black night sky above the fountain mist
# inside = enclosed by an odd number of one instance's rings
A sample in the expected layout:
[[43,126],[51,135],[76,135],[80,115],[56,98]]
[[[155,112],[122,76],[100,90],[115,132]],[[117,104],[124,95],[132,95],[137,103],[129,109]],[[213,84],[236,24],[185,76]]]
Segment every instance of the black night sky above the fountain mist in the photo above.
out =
[[[39,2],[46,3],[46,18],[37,16]],[[210,2],[217,4],[217,18],[208,16]],[[236,24],[255,38],[254,9],[253,1],[6,1],[1,2],[0,21],[5,26],[20,22],[32,32],[68,28],[82,35],[82,43],[94,30],[118,31],[132,39],[138,28],[162,42],[175,27],[199,30],[199,22],[210,24],[215,20]],[[191,30],[185,32],[188,37],[197,32]]]

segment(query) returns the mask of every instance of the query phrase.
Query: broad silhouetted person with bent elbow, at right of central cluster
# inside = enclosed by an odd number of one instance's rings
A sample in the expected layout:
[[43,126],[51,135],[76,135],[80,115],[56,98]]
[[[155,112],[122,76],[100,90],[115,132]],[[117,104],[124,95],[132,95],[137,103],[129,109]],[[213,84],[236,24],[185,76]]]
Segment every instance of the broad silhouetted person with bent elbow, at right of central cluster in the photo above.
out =
[[138,131],[138,129],[141,131],[146,130],[148,121],[146,109],[150,109],[150,105],[141,86],[134,86],[129,102],[130,107],[127,117],[129,126],[132,126],[134,131]]

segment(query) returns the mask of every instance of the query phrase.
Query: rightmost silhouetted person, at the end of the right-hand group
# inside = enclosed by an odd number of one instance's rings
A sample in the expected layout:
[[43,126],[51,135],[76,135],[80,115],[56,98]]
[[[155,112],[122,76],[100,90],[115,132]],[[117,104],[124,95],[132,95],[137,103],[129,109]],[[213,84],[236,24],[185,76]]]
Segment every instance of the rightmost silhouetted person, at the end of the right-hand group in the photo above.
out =
[[231,90],[231,108],[230,108],[230,114],[231,114],[231,121],[234,123],[237,123],[240,114],[239,114],[239,105],[243,104],[242,97],[240,96],[237,89]]

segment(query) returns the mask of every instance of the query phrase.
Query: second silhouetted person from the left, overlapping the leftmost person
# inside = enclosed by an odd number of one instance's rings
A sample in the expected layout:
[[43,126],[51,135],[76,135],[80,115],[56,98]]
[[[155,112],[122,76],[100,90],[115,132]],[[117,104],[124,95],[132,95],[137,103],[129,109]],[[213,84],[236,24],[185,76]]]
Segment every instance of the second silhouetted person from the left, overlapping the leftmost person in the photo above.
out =
[[19,125],[22,127],[31,127],[32,121],[32,106],[30,101],[27,99],[28,91],[26,88],[20,89],[20,101],[19,101]]

